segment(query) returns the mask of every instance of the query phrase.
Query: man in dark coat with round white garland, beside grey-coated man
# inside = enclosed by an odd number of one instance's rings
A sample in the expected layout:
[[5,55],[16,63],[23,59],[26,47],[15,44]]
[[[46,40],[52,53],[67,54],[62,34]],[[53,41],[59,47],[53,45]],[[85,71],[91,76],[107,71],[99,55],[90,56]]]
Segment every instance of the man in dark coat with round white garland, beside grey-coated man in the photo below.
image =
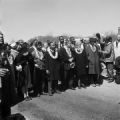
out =
[[75,44],[74,58],[75,58],[75,73],[78,80],[78,88],[86,87],[88,82],[86,77],[88,59],[84,48],[84,44],[81,41]]

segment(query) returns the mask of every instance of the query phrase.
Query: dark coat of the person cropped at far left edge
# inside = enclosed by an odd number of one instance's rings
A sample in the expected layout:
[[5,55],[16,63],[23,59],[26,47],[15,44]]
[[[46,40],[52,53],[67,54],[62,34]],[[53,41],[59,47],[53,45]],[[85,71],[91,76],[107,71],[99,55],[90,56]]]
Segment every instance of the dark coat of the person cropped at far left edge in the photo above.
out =
[[6,56],[2,57],[1,53],[0,53],[0,68],[6,68],[9,70],[4,77],[1,77],[1,81],[2,81],[1,104],[3,106],[11,107],[12,105],[17,103],[17,94],[15,90],[15,84],[13,81],[13,76],[9,61]]

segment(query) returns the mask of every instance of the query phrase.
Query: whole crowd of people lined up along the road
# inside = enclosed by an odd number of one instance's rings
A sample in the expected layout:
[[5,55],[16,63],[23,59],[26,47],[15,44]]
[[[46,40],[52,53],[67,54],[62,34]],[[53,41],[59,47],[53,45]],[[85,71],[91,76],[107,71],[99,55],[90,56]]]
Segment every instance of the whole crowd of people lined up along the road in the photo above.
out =
[[[119,61],[119,60],[118,60]],[[97,33],[88,40],[59,37],[59,43],[31,44],[23,40],[4,43],[0,33],[0,92],[2,117],[18,99],[29,101],[41,95],[61,94],[103,83],[101,72],[107,69],[108,82],[114,81],[114,46],[112,37]],[[116,63],[116,68],[119,62]],[[16,99],[15,99],[16,98]]]

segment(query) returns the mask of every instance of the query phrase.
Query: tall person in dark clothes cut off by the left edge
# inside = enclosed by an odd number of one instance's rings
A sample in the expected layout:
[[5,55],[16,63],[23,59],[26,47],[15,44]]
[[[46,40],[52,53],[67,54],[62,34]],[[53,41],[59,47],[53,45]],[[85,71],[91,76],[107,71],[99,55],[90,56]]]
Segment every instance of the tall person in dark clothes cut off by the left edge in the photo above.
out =
[[8,60],[8,54],[4,46],[3,34],[0,33],[0,89],[1,103],[0,110],[3,119],[11,114],[13,98],[15,100],[15,89],[12,81],[11,68]]

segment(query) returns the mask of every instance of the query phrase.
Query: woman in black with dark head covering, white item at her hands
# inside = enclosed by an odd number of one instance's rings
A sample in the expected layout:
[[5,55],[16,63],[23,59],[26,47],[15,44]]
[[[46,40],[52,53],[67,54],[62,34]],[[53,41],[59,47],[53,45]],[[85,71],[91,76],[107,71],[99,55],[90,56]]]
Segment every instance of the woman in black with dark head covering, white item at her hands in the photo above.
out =
[[25,100],[31,100],[31,97],[28,94],[28,88],[32,86],[29,60],[30,54],[28,52],[28,45],[27,43],[23,43],[19,49],[19,54],[15,59],[15,65],[17,70],[18,93],[20,93]]

